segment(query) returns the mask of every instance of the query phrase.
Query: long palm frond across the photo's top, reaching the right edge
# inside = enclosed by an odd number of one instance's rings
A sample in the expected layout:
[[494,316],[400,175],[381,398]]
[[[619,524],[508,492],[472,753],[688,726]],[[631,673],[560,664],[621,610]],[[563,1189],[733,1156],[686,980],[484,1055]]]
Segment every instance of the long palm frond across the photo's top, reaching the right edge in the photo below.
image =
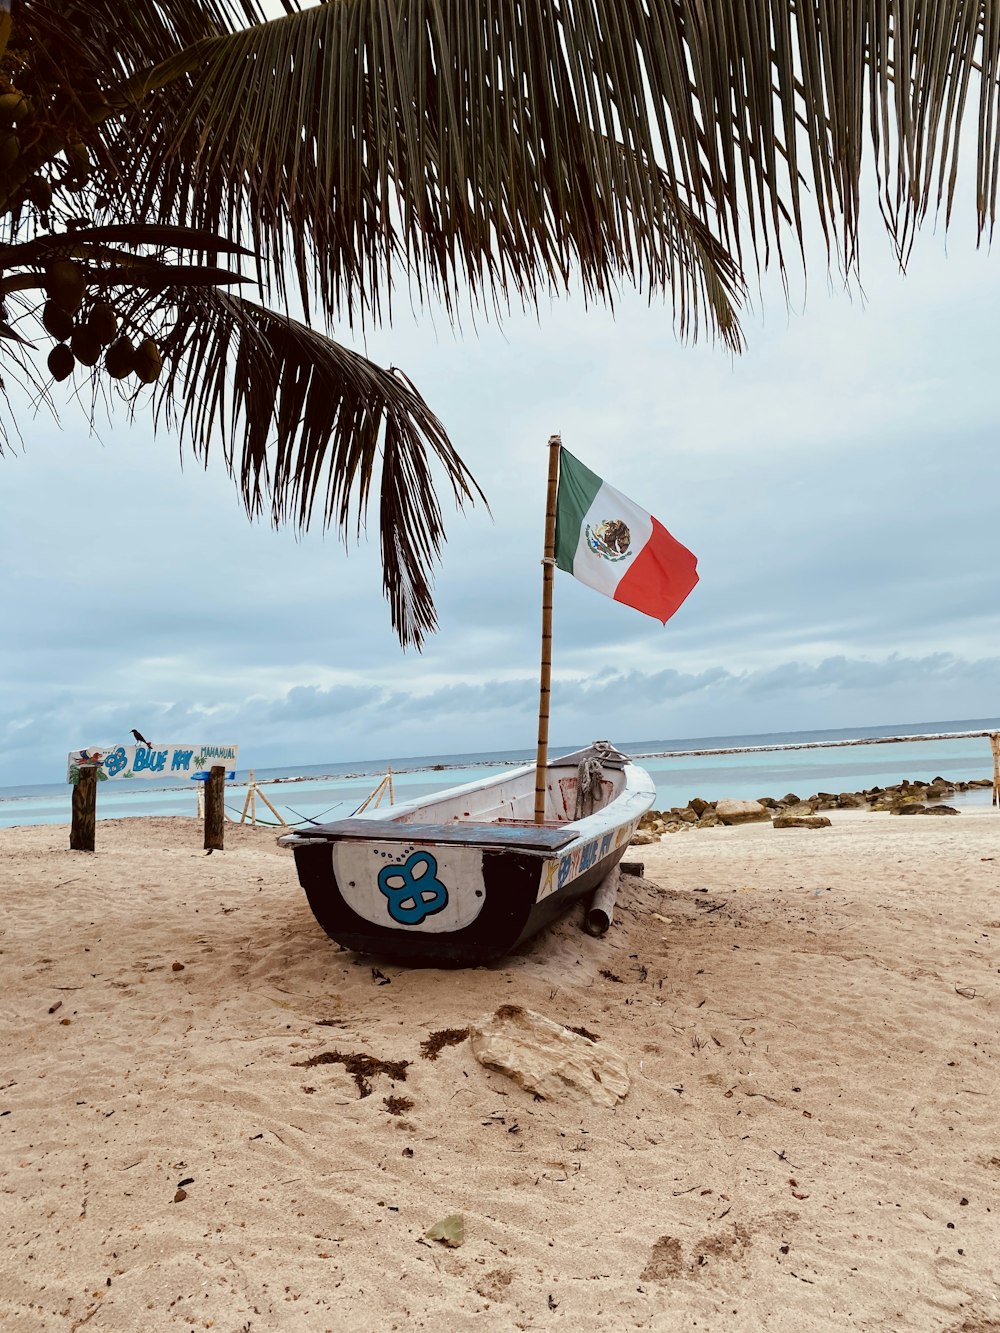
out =
[[865,161],[901,248],[951,212],[971,97],[992,227],[999,69],[996,0],[337,0],[149,75],[177,128],[141,141],[137,201],[245,239],[341,316],[393,265],[445,301],[572,273],[667,288],[675,200],[759,261],[808,204],[849,264]]

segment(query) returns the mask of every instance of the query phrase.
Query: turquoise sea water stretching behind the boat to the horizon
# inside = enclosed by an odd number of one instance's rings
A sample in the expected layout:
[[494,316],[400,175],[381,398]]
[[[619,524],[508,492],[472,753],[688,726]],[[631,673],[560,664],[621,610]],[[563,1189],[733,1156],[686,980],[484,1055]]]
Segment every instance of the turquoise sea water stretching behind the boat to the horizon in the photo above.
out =
[[[989,740],[985,736],[911,740],[893,744],[867,744],[832,748],[831,742],[872,740],[883,736],[929,736],[947,732],[1000,730],[1000,718],[971,718],[943,722],[905,722],[884,726],[840,728],[836,730],[769,732],[761,736],[711,736],[685,740],[615,741],[619,749],[637,758],[656,782],[656,808],[664,809],[700,796],[781,797],[789,792],[807,797],[816,792],[856,792],[888,786],[903,778],[952,781],[988,778],[993,773]],[[552,756],[567,754],[585,745],[553,746]],[[831,746],[764,750],[764,745]],[[692,750],[741,750],[741,753],[692,754]],[[667,753],[673,752],[673,753]],[[389,764],[397,801],[440,792],[459,782],[495,773],[504,765],[529,762],[532,750],[495,750],[472,754],[385,756],[351,764],[288,764],[281,768],[255,768],[257,784],[288,824],[308,820],[344,818],[352,814],[379,781]],[[240,769],[227,788],[227,809],[239,818],[247,794],[248,770]],[[68,824],[69,793],[65,782],[36,786],[0,788],[0,828],[23,824]],[[960,792],[951,804],[988,805],[989,789]],[[385,802],[383,802],[385,804]],[[151,781],[101,782],[97,796],[99,818],[143,814],[195,814],[196,792],[184,786]],[[257,801],[257,822],[273,816]]]

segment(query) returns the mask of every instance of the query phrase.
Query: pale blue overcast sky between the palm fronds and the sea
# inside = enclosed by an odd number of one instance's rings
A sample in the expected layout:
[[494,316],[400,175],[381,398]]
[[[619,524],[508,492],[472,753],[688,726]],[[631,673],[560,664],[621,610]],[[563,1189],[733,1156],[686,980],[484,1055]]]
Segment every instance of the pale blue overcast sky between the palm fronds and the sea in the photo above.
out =
[[240,766],[535,742],[547,440],[699,557],[660,625],[557,572],[553,745],[887,728],[1000,714],[1000,265],[968,220],[905,276],[877,225],[847,291],[753,292],[747,351],[683,344],[623,293],[501,325],[400,308],[367,339],[400,365],[487,493],[445,509],[440,631],[396,643],[371,544],[251,523],[148,413],[91,432],[19,409],[0,457],[0,786],[68,750],[237,742]]

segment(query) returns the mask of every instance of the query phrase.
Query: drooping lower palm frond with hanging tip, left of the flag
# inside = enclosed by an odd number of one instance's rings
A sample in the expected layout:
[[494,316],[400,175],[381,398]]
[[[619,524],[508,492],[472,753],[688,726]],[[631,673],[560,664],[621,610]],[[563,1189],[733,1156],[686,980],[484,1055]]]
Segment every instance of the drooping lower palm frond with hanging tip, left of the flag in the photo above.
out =
[[403,644],[435,629],[431,567],[444,541],[437,464],[457,504],[481,492],[413,385],[296,320],[220,291],[176,308],[157,415],[199,459],[223,436],[251,516],[360,533],[380,476],[383,585]]

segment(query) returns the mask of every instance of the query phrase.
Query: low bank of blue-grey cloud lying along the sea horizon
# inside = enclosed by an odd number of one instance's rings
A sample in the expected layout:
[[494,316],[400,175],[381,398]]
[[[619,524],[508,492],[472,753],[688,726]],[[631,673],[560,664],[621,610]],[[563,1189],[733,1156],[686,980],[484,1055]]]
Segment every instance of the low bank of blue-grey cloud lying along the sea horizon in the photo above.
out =
[[[931,653],[788,660],[757,670],[563,672],[553,681],[552,744],[747,734],[748,717],[751,732],[988,717],[999,669],[996,657]],[[0,785],[60,781],[71,748],[127,738],[135,725],[164,744],[237,742],[241,766],[267,768],[524,750],[533,745],[536,709],[537,678],[529,674],[429,689],[376,681],[292,686],[269,697],[220,694],[183,705],[96,698],[83,709],[71,690],[20,701],[4,692]]]

